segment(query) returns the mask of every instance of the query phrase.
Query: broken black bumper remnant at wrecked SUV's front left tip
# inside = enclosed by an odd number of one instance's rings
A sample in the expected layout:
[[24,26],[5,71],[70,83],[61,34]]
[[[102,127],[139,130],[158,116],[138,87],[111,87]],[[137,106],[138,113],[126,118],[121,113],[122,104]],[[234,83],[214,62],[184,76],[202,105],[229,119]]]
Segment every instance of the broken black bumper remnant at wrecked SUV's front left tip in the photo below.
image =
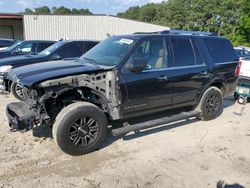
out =
[[10,103],[6,115],[12,130],[30,130],[38,124],[36,112],[23,102]]

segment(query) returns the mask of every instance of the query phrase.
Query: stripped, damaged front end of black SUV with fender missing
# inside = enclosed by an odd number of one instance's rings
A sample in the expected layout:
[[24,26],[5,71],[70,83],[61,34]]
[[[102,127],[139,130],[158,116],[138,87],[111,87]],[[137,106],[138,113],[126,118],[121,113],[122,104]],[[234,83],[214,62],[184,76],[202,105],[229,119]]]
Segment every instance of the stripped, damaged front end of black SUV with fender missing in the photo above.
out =
[[90,102],[100,107],[112,120],[120,119],[120,92],[114,70],[46,80],[35,86],[23,87],[22,102],[7,106],[9,125],[13,130],[29,130],[43,122],[52,125],[67,105]]

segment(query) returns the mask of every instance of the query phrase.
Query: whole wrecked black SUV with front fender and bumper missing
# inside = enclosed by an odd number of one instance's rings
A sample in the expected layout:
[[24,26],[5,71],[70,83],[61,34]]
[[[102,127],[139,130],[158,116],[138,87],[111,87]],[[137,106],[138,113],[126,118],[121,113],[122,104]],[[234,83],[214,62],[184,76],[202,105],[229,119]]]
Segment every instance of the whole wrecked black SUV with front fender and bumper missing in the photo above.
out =
[[[126,134],[191,116],[216,118],[234,93],[238,58],[229,40],[206,32],[162,31],[113,36],[74,62],[9,72],[24,102],[7,107],[13,129],[45,122],[61,150],[81,155],[104,141],[108,122],[178,107],[171,117],[114,129]],[[119,121],[119,122],[120,122]]]

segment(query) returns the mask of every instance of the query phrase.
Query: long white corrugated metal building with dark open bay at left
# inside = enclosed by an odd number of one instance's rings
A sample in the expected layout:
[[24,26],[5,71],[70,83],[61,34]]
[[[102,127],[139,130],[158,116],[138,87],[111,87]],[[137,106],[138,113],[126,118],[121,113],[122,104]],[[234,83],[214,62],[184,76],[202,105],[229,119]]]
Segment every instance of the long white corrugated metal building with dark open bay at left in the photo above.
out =
[[[0,38],[93,39],[108,35],[168,30],[168,27],[107,15],[13,15],[0,14]],[[13,18],[12,18],[12,17]],[[17,27],[18,25],[18,27]],[[4,32],[3,32],[3,29]],[[1,32],[2,30],[2,32]]]

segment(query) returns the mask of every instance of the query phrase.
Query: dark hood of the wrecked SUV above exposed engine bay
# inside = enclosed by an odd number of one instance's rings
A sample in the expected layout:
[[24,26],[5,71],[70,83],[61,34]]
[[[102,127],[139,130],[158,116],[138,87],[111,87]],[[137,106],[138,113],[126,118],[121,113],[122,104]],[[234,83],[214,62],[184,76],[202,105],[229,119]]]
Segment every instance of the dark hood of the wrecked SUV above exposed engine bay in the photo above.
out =
[[13,69],[8,73],[7,78],[19,82],[23,86],[31,87],[33,84],[49,79],[96,72],[104,69],[107,69],[107,67],[97,67],[89,63],[79,63],[75,60],[49,61]]

